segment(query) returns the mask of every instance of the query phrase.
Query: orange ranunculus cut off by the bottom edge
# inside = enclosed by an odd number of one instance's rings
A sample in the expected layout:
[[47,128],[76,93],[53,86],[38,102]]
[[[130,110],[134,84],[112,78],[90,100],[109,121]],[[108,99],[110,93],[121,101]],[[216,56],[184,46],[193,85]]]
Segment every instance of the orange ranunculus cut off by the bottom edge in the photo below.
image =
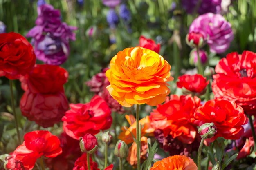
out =
[[198,167],[190,157],[174,155],[157,161],[150,170],[198,170]]

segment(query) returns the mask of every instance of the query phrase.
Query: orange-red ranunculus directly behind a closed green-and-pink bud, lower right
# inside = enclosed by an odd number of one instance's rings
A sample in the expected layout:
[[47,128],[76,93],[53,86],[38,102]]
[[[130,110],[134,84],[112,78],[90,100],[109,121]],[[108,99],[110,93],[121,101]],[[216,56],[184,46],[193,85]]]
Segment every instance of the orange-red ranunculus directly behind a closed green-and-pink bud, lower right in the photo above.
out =
[[[209,100],[195,110],[195,124],[214,123],[217,133],[209,141],[217,137],[239,139],[244,134],[242,125],[247,124],[248,118],[241,106],[227,100]],[[207,139],[208,140],[208,139]]]

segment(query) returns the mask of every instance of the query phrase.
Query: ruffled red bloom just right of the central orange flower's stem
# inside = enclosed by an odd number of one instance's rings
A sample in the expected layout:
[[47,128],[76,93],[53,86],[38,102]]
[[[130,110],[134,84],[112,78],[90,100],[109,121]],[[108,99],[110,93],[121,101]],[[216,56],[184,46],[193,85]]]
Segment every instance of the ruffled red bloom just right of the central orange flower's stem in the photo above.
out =
[[193,114],[199,106],[200,99],[196,96],[171,95],[169,100],[150,113],[151,125],[163,130],[165,137],[170,134],[173,138],[191,144],[197,133]]

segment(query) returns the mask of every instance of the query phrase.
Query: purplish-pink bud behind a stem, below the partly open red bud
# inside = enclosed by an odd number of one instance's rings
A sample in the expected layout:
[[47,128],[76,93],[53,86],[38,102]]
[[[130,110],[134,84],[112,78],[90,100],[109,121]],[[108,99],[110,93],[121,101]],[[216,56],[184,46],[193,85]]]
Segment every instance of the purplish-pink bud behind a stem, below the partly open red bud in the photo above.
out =
[[[203,65],[207,63],[207,53],[204,50],[199,50],[199,58]],[[190,52],[189,64],[191,66],[197,66],[197,64],[198,64],[198,53],[197,53],[196,49],[193,49]]]

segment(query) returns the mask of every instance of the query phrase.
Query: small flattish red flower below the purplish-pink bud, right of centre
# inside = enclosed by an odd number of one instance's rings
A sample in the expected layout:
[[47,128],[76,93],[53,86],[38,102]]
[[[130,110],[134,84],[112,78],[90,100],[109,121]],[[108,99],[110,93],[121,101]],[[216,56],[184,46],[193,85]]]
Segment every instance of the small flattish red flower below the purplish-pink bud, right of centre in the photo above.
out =
[[207,84],[209,84],[209,80],[207,81],[200,74],[195,75],[182,75],[178,77],[179,81],[177,82],[177,87],[186,88],[187,90],[193,93],[203,93]]

